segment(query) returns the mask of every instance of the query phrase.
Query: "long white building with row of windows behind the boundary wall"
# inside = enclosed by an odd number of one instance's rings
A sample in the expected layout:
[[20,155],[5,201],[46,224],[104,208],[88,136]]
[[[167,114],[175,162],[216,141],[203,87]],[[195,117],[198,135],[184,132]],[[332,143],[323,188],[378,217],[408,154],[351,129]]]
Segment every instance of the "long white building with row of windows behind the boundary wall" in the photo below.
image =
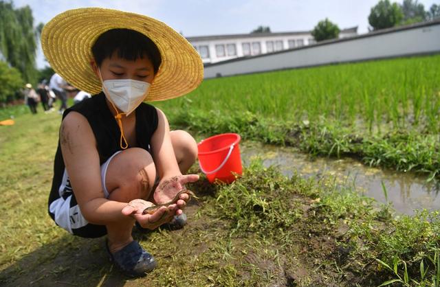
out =
[[[352,27],[341,30],[339,38],[357,35],[358,27]],[[199,51],[204,64],[316,43],[314,37],[311,36],[311,31],[196,36],[186,39]]]

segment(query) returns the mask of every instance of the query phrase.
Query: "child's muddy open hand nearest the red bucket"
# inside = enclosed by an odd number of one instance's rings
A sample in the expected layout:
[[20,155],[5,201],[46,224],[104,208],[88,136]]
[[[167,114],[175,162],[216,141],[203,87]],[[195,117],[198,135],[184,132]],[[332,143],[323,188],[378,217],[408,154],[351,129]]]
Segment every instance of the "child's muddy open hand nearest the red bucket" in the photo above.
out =
[[[173,176],[172,178],[164,178],[157,186],[153,198],[158,205],[168,203],[170,200],[173,200],[178,192],[185,189],[186,183],[194,183],[198,180],[199,176],[197,174],[186,174]],[[179,210],[177,210],[176,215],[181,214],[182,211],[180,209],[185,207],[189,198],[188,194],[180,195],[180,199],[177,200],[177,207]]]

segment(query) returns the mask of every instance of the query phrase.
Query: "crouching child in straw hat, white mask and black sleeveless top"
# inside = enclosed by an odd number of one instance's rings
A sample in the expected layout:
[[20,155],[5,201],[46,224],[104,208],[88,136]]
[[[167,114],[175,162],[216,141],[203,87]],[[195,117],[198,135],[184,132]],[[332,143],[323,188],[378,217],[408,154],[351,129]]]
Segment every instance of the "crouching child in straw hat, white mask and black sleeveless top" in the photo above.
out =
[[107,234],[114,264],[142,276],[157,263],[131,237],[134,223],[155,229],[181,216],[188,194],[151,215],[142,211],[199,179],[182,175],[197,157],[195,140],[183,130],[170,131],[164,113],[144,100],[197,88],[201,58],[164,23],[102,8],[59,14],[45,25],[41,43],[56,73],[94,95],[63,113],[50,216],[76,236]]

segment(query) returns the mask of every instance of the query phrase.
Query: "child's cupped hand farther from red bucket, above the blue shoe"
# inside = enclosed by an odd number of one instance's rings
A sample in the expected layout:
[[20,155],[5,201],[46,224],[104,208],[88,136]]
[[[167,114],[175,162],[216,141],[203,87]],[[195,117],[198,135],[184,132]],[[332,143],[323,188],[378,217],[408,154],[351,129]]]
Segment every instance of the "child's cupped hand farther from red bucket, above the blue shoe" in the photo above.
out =
[[151,230],[166,222],[170,222],[173,216],[181,214],[181,211],[177,213],[179,209],[176,204],[168,205],[168,207],[162,206],[157,209],[154,214],[142,214],[146,207],[151,207],[152,205],[153,203],[150,201],[134,199],[127,203],[126,207],[122,209],[122,214],[124,214],[124,216],[133,217],[139,222],[141,227]]

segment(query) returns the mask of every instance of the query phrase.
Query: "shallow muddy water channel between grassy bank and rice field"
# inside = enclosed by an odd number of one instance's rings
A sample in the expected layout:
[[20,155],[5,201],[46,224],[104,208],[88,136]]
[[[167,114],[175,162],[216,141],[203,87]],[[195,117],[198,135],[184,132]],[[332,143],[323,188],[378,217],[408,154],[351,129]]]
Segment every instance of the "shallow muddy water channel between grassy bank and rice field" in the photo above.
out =
[[415,209],[440,209],[440,185],[427,182],[427,177],[403,172],[369,168],[354,159],[311,160],[294,148],[261,145],[261,143],[240,143],[243,165],[256,157],[265,166],[277,165],[286,176],[298,172],[303,177],[333,176],[342,185],[350,185],[365,196],[386,203],[382,182],[386,187],[388,202],[402,214],[414,214]]

